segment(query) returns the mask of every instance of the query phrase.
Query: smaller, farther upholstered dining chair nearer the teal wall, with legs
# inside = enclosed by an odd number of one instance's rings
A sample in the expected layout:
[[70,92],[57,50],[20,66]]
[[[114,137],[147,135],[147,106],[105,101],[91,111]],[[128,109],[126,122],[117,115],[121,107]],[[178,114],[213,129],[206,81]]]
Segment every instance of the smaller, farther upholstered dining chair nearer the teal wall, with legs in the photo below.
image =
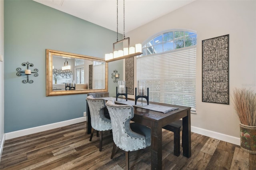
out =
[[92,95],[87,96],[86,101],[90,108],[91,114],[91,136],[90,141],[92,141],[92,136],[94,130],[100,132],[100,151],[102,150],[102,131],[112,130],[111,120],[104,115],[104,108],[106,107],[106,101],[102,98],[94,98]]

